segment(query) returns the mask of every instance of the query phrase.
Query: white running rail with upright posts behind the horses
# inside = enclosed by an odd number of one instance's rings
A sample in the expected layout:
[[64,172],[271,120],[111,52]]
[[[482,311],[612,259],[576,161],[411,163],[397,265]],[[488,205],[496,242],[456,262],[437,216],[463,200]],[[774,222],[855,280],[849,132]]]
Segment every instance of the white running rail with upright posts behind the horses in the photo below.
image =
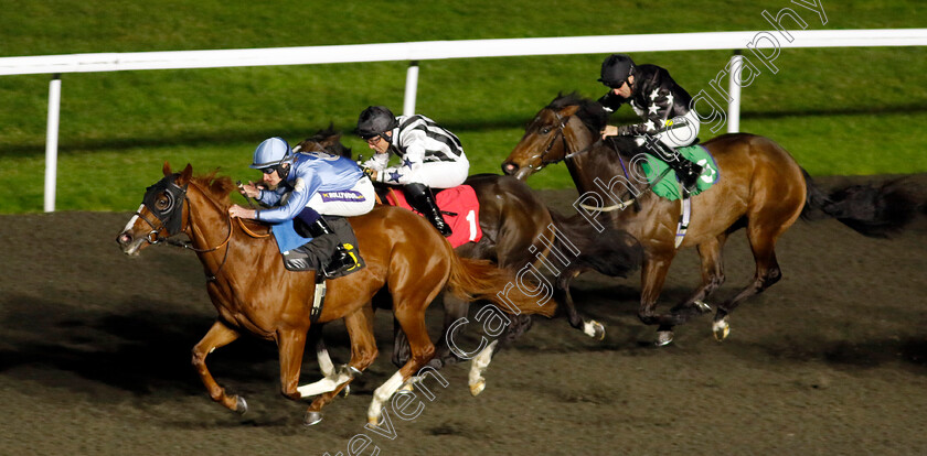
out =
[[[772,23],[772,22],[770,22]],[[807,24],[806,24],[807,25]],[[403,112],[415,110],[418,61],[528,55],[609,54],[614,52],[735,51],[727,91],[727,129],[739,124],[740,68],[744,59],[775,68],[782,47],[925,46],[927,29],[785,30],[661,33],[505,40],[424,41],[409,43],[334,46],[270,47],[251,50],[173,51],[0,57],[0,76],[52,74],[49,87],[49,124],[45,146],[45,211],[54,210],[61,74],[129,69],[217,68],[234,66],[309,65],[331,63],[408,61]],[[740,50],[747,52],[739,53]],[[775,72],[774,72],[775,73]],[[735,75],[738,75],[735,77]],[[592,76],[590,76],[592,77]]]

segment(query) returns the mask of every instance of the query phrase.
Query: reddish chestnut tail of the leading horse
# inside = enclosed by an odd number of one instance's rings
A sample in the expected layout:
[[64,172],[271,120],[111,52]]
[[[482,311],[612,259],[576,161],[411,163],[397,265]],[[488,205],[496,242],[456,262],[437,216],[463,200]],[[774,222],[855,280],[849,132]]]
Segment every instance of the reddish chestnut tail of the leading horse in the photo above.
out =
[[450,265],[450,279],[448,291],[464,301],[487,300],[496,304],[500,310],[513,315],[543,315],[552,317],[556,311],[556,303],[545,295],[550,286],[541,284],[528,292],[534,292],[534,296],[526,294],[521,286],[524,281],[519,281],[515,274],[505,268],[499,268],[489,260],[476,260],[460,258],[448,245],[448,250],[454,261]]

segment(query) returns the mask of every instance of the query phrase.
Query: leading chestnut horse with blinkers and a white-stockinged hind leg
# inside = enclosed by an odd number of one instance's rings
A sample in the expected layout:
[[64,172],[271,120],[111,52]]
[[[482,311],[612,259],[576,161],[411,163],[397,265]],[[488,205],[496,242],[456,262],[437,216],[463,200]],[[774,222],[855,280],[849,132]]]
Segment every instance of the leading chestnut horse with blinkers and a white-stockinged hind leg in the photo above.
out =
[[[300,399],[297,387],[302,363],[315,281],[311,274],[284,268],[276,242],[265,225],[230,218],[228,198],[234,184],[228,177],[193,177],[188,164],[148,187],[142,205],[117,237],[121,250],[137,254],[145,247],[185,234],[207,276],[206,289],[219,318],[193,348],[193,366],[210,397],[226,408],[244,413],[246,402],[226,394],[206,369],[206,356],[237,339],[243,332],[277,343],[280,384],[285,397]],[[408,336],[411,359],[373,394],[367,420],[379,422],[383,403],[415,376],[434,355],[425,326],[425,308],[446,287],[462,300],[489,300],[507,312],[551,316],[553,306],[539,306],[520,290],[508,294],[509,304],[497,292],[514,280],[512,274],[488,261],[458,258],[454,249],[428,221],[408,210],[380,206],[349,218],[358,237],[358,249],[366,267],[330,280],[319,324],[343,318],[351,340],[350,372],[366,369],[377,355],[373,336],[371,298],[384,286],[393,297],[393,313]],[[352,379],[348,374],[331,391],[317,398],[307,410],[308,424],[321,419],[321,408]]]

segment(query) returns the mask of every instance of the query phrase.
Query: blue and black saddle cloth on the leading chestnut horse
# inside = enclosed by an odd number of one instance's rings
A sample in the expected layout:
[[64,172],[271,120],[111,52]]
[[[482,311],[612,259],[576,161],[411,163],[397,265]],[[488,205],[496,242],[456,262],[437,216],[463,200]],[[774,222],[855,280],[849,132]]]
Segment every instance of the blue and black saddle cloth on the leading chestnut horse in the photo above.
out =
[[[322,216],[331,227],[332,231],[338,236],[338,240],[330,236],[321,237],[327,239],[327,242],[312,242],[313,238],[305,238],[300,236],[292,227],[292,220],[281,221],[270,226],[274,232],[274,238],[277,240],[277,248],[284,258],[284,267],[289,271],[322,271],[322,267],[331,260],[331,253],[334,251],[334,246],[340,241],[348,249],[349,253],[354,257],[358,265],[341,272],[335,273],[326,279],[338,279],[364,268],[364,259],[358,249],[358,237],[354,235],[354,229],[344,217],[329,217]],[[319,272],[321,275],[321,272]]]

